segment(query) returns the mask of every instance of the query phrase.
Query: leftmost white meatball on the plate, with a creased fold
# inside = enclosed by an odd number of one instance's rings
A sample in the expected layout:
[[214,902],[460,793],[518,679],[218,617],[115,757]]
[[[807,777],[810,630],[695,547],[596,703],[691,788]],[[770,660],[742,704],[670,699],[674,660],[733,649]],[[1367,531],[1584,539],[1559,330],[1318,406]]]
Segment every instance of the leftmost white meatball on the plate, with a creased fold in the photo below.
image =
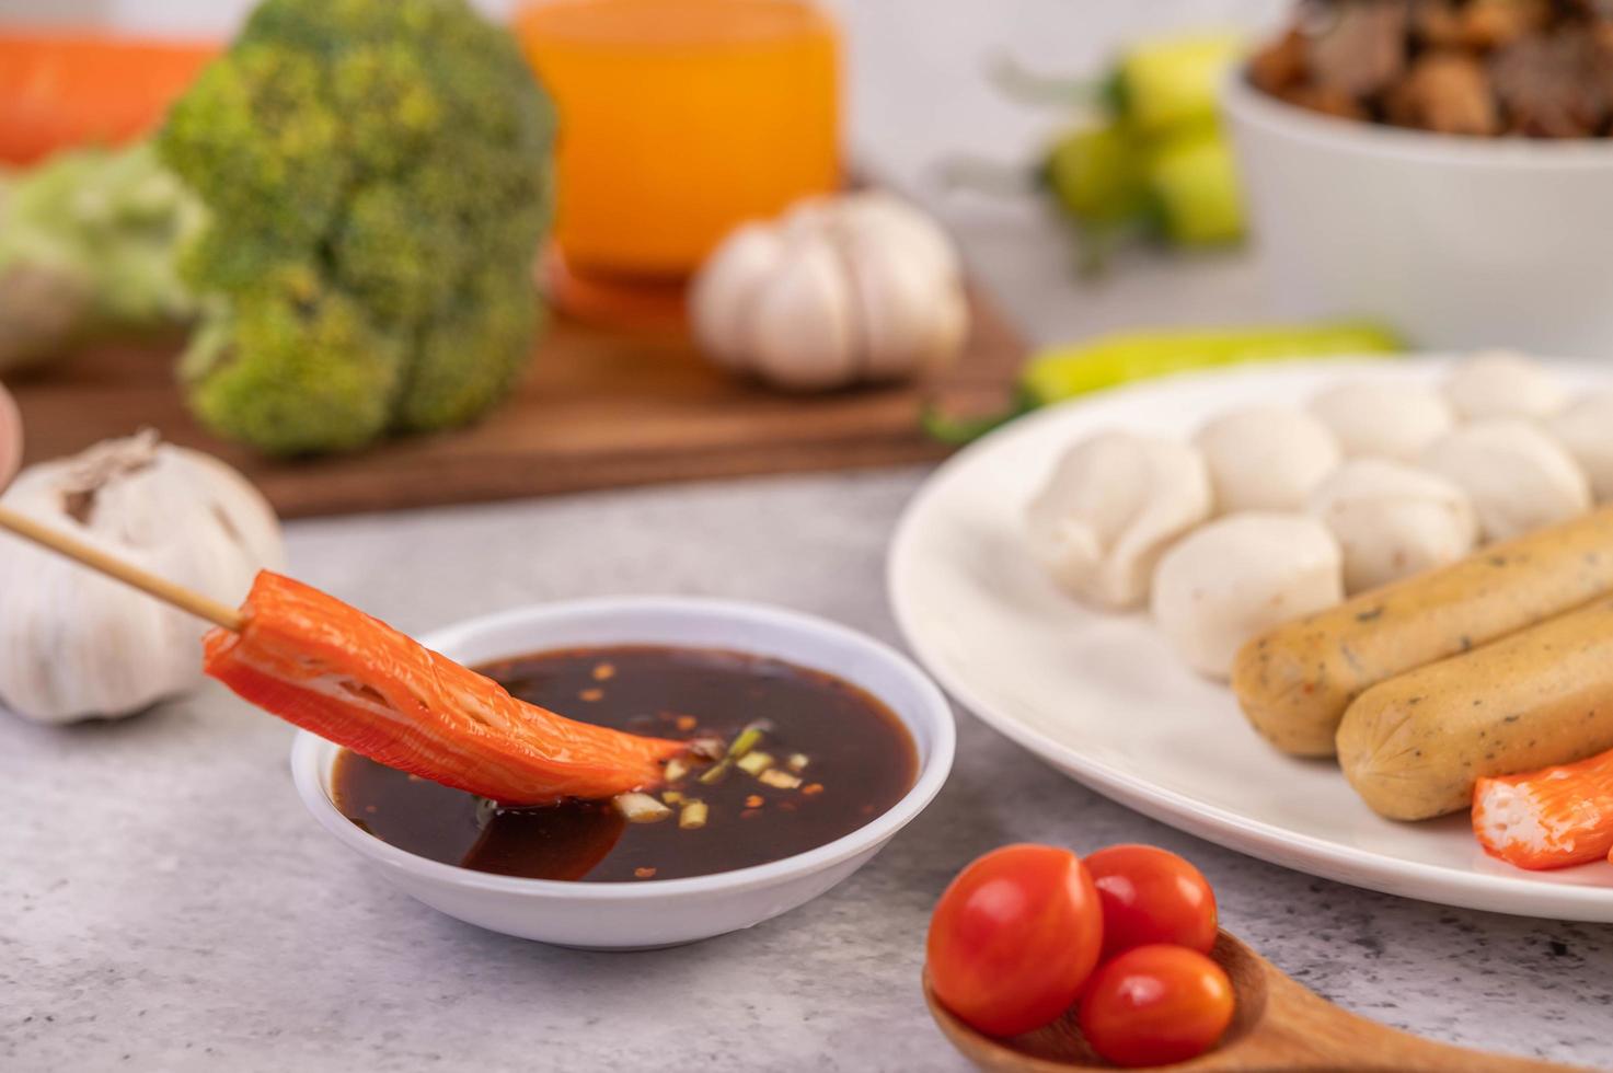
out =
[[1210,516],[1210,476],[1187,444],[1098,432],[1071,447],[1026,511],[1031,552],[1081,600],[1148,597],[1160,553]]

